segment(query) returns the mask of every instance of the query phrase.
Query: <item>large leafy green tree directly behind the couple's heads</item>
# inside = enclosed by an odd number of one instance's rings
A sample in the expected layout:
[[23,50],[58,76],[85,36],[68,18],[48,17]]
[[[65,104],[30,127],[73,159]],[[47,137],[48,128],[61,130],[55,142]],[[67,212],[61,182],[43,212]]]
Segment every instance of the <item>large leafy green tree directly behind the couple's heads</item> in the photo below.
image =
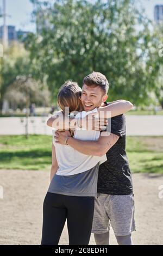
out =
[[[151,24],[135,8],[134,0],[32,2],[35,19],[41,19],[26,48],[40,73],[47,76],[53,98],[67,79],[81,86],[83,77],[94,70],[108,78],[112,100],[149,102],[159,67],[148,44],[152,42],[155,49],[156,44]],[[151,65],[156,68],[152,76]]]

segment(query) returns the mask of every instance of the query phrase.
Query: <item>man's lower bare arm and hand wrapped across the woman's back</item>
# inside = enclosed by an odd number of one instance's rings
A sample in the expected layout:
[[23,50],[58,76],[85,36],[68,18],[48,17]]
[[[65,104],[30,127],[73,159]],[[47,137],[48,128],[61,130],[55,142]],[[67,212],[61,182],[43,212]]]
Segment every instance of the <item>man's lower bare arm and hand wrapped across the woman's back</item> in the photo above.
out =
[[[67,144],[85,155],[103,156],[118,141],[118,138],[120,138],[114,133],[110,133],[109,136],[106,135],[107,134],[100,136],[98,141],[80,141],[79,139],[68,137]],[[57,141],[55,141],[56,143],[66,144],[66,136],[63,132],[55,132],[55,139],[57,139]]]

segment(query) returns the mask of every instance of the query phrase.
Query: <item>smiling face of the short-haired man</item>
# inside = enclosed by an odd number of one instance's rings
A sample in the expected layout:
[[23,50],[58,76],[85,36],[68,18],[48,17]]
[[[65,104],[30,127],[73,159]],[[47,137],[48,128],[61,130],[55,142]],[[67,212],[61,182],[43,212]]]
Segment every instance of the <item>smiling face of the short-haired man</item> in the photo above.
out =
[[104,94],[99,86],[87,86],[83,84],[81,101],[85,111],[92,111],[96,107],[103,106],[108,95]]

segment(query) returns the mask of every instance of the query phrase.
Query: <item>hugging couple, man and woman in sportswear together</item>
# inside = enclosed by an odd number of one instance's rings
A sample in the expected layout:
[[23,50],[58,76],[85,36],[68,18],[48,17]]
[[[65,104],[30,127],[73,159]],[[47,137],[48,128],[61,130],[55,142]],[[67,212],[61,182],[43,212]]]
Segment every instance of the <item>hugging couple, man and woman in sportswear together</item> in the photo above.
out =
[[86,76],[82,89],[71,81],[59,89],[61,111],[47,121],[53,127],[52,167],[41,245],[58,245],[66,220],[69,245],[88,245],[91,233],[96,245],[109,245],[110,225],[118,245],[133,245],[134,194],[124,115],[133,105],[106,102],[108,90],[99,72]]

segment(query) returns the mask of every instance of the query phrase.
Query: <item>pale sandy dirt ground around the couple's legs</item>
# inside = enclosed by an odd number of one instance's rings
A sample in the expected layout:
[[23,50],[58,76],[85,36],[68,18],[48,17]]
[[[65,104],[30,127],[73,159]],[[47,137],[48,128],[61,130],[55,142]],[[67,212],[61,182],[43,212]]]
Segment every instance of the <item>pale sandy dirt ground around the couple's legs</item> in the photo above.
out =
[[[159,186],[163,176],[134,174],[135,245],[163,245],[163,198]],[[49,182],[44,171],[0,170],[0,245],[39,245],[42,228],[42,203]],[[163,193],[162,193],[163,195]],[[60,245],[68,244],[66,225]],[[116,245],[111,230],[111,244]],[[91,235],[90,245],[95,245]]]

